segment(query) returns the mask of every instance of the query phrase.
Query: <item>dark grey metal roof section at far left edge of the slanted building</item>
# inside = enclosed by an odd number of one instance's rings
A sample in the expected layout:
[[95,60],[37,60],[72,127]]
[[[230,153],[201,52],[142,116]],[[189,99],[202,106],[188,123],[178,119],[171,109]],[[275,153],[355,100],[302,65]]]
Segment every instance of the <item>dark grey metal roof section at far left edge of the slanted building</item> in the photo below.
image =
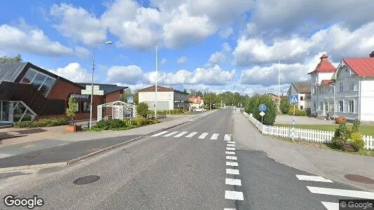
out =
[[13,83],[22,70],[25,69],[26,64],[27,62],[0,64],[0,82],[6,81]]

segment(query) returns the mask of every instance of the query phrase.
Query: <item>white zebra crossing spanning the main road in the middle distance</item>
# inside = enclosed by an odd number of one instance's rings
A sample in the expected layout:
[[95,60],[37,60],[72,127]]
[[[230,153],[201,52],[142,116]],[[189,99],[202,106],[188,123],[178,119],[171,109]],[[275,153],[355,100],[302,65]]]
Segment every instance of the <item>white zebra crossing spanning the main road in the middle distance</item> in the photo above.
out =
[[[173,138],[198,138],[198,139],[210,139],[210,140],[225,140],[229,141],[229,143],[233,143],[233,141],[230,141],[230,134],[217,134],[217,133],[208,133],[208,132],[169,132],[169,131],[163,131],[158,132],[157,134],[151,135],[151,137],[173,137]],[[230,144],[232,145],[232,144]]]

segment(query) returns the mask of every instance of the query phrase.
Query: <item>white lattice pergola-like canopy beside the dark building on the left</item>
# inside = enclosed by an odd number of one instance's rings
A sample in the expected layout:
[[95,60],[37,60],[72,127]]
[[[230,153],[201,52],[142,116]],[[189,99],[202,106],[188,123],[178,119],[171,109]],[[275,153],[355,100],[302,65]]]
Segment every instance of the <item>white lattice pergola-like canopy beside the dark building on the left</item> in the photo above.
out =
[[124,118],[136,118],[137,117],[137,106],[134,104],[128,104],[126,102],[110,102],[106,104],[101,104],[97,106],[97,122],[102,120],[103,117],[103,107],[111,108],[111,118],[112,119],[120,119],[123,120]]

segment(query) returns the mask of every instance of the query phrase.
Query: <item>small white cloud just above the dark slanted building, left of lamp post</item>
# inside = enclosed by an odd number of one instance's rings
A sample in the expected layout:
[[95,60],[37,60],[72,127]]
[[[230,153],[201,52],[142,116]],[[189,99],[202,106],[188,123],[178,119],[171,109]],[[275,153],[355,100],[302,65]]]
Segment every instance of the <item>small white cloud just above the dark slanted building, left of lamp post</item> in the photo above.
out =
[[78,63],[70,63],[63,68],[58,68],[56,70],[50,69],[48,71],[76,83],[88,83],[92,81],[92,74],[88,73],[88,71]]

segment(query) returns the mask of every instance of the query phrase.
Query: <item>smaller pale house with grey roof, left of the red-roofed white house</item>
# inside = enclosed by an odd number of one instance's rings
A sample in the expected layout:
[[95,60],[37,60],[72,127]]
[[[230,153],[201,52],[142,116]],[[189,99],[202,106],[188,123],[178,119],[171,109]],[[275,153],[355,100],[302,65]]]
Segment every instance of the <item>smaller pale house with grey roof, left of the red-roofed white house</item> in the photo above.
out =
[[287,95],[298,95],[298,109],[310,113],[310,83],[291,83]]

